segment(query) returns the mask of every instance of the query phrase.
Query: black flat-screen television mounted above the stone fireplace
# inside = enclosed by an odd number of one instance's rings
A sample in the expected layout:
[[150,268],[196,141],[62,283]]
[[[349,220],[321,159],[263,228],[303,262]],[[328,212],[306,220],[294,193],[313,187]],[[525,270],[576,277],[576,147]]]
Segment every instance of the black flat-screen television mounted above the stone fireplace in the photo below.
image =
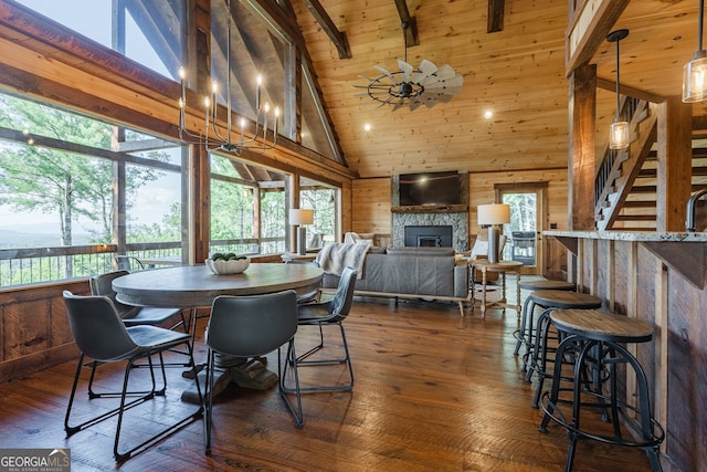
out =
[[401,174],[398,191],[401,207],[462,203],[460,174],[455,170]]

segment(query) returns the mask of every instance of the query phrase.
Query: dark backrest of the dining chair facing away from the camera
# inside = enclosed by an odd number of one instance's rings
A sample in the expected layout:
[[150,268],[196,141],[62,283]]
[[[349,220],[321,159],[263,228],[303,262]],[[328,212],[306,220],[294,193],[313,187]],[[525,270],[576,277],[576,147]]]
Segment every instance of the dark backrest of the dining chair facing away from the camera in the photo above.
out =
[[262,356],[287,343],[296,332],[295,291],[253,296],[221,295],[211,305],[205,344],[231,356]]

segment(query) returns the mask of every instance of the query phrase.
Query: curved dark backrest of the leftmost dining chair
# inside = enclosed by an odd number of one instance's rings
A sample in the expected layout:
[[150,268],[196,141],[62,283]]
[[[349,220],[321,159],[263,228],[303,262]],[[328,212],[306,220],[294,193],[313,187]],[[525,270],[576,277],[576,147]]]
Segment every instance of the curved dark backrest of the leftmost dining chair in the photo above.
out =
[[67,290],[63,295],[71,332],[84,355],[110,361],[138,349],[110,298],[74,295]]

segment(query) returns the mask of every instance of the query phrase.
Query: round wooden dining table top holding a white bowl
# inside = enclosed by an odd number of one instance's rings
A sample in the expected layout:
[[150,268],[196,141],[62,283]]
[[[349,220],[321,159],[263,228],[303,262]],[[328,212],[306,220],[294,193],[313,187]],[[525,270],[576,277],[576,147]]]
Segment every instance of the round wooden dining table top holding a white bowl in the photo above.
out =
[[122,303],[136,306],[211,306],[219,295],[260,295],[294,290],[308,293],[321,284],[315,265],[254,263],[241,274],[217,275],[205,265],[133,272],[113,281]]

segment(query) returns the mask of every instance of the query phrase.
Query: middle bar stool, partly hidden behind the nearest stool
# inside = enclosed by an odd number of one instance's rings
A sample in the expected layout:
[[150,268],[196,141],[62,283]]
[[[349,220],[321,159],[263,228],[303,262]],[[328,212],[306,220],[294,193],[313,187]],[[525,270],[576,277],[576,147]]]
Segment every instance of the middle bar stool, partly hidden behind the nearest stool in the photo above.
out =
[[[548,334],[550,329],[550,312],[556,308],[578,308],[592,310],[601,307],[601,298],[588,293],[568,292],[563,290],[537,290],[528,295],[530,304],[528,306],[529,317],[528,333],[526,342],[526,354],[524,355],[524,367],[526,369],[526,381],[530,381],[532,373],[537,373],[538,386],[532,397],[532,408],[538,408],[542,385],[547,374]],[[541,306],[545,311],[538,316],[535,335],[532,333],[532,312],[535,306]],[[532,354],[530,354],[532,349]]]

